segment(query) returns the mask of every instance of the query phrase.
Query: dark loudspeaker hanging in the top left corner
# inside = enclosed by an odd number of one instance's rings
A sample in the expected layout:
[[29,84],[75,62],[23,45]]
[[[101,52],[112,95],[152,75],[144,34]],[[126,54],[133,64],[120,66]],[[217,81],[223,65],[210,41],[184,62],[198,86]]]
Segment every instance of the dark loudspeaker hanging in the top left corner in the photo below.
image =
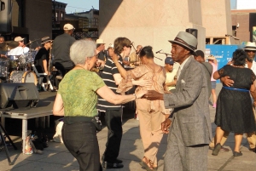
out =
[[12,32],[12,5],[11,0],[0,1],[0,32]]

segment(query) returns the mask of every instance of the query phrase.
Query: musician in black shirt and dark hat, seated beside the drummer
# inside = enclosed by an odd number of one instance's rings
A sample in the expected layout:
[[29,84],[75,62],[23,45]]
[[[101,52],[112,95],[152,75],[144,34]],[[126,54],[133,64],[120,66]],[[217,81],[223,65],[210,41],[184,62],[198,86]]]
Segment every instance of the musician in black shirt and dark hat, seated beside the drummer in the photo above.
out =
[[43,37],[41,39],[43,48],[40,48],[38,54],[35,57],[34,65],[38,73],[46,73],[49,75],[49,48],[51,48],[52,40],[49,37]]

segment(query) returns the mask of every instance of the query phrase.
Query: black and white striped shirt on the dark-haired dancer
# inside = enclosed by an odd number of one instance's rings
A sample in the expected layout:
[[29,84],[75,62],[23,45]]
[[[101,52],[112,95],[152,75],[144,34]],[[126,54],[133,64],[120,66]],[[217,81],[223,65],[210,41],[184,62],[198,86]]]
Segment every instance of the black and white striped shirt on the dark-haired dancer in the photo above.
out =
[[[121,65],[122,65],[122,61],[123,61],[123,59],[120,56],[119,63]],[[104,81],[104,83],[108,86],[108,88],[110,88],[113,91],[114,94],[118,94],[118,93],[116,93],[118,85],[115,84],[113,74],[118,74],[118,73],[119,73],[119,70],[113,63],[113,60],[110,57],[108,57],[108,60],[106,61],[106,64],[101,73],[101,77],[102,77],[102,80]],[[119,108],[121,106],[122,105],[113,105],[112,103],[109,103],[107,100],[102,99],[101,96],[99,96],[99,98],[98,98],[98,105],[97,105],[98,111],[106,112],[107,109],[119,110]]]

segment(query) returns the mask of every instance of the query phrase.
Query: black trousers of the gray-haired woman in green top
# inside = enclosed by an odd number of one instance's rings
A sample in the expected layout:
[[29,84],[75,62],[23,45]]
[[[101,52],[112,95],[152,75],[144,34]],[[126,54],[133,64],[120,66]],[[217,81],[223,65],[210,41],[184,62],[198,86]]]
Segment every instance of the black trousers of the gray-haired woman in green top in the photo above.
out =
[[64,123],[61,134],[67,150],[78,160],[80,171],[102,171],[94,123]]

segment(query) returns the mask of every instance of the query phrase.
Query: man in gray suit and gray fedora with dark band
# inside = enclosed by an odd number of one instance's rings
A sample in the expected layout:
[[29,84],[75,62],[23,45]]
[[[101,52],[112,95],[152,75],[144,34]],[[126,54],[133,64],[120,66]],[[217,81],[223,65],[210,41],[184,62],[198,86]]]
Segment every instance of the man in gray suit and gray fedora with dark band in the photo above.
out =
[[174,108],[172,121],[167,118],[162,123],[163,132],[169,132],[164,170],[207,170],[212,127],[207,76],[204,66],[192,55],[195,54],[197,39],[188,32],[180,31],[169,42],[172,43],[172,60],[180,64],[176,93],[159,94],[148,90],[144,95],[148,100],[164,100],[166,108]]

